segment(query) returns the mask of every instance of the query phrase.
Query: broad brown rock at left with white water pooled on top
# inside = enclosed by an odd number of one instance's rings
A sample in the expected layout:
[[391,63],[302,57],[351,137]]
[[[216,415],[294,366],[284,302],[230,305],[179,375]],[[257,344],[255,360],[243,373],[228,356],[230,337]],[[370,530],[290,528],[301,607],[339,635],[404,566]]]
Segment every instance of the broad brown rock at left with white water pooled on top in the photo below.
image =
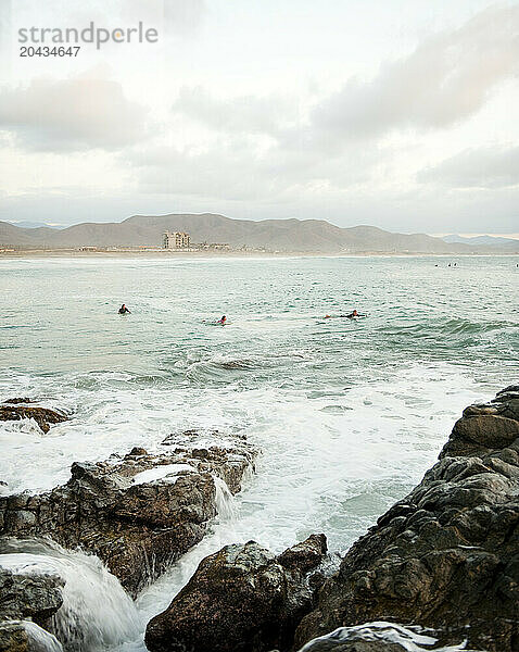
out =
[[203,538],[217,512],[215,477],[236,493],[254,456],[239,442],[203,454],[134,449],[124,459],[75,463],[68,482],[52,491],[0,497],[0,534],[92,552],[136,595]]

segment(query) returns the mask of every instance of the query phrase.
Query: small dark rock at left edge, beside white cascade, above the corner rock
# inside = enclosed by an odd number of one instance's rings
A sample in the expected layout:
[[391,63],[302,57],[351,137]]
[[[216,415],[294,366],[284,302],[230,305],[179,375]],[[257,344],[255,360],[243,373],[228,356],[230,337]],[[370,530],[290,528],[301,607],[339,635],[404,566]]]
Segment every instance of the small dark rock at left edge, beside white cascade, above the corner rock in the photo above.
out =
[[63,604],[64,581],[51,575],[22,575],[0,568],[0,619],[43,625]]

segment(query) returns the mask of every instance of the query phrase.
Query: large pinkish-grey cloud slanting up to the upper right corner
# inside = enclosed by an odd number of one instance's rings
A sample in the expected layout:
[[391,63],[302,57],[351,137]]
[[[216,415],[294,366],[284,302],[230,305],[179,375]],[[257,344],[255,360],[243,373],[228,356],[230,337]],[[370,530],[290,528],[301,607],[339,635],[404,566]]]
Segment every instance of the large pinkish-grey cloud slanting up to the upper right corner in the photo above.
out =
[[478,112],[491,91],[519,72],[519,5],[491,8],[380,68],[350,79],[311,114],[316,139],[382,137],[408,127],[443,128]]

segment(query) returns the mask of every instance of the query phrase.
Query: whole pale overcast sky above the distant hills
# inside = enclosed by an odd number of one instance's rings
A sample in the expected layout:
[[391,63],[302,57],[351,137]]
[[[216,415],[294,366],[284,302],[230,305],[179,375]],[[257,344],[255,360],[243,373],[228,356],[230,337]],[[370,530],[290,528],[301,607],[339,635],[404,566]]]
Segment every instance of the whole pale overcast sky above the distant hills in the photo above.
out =
[[[92,22],[157,39],[20,55]],[[0,220],[519,231],[519,0],[0,0]]]

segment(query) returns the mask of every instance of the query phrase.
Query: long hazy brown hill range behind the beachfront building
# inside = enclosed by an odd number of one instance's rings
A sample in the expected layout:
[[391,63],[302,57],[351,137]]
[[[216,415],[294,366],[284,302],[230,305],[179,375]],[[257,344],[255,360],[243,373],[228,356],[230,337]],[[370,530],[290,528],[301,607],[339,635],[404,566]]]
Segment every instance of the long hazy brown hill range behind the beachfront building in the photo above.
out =
[[134,215],[121,223],[83,223],[67,228],[21,228],[0,222],[0,244],[18,248],[160,246],[165,230],[188,231],[191,242],[225,242],[282,252],[470,253],[425,234],[393,234],[374,226],[340,228],[322,220],[230,220],[213,213]]

